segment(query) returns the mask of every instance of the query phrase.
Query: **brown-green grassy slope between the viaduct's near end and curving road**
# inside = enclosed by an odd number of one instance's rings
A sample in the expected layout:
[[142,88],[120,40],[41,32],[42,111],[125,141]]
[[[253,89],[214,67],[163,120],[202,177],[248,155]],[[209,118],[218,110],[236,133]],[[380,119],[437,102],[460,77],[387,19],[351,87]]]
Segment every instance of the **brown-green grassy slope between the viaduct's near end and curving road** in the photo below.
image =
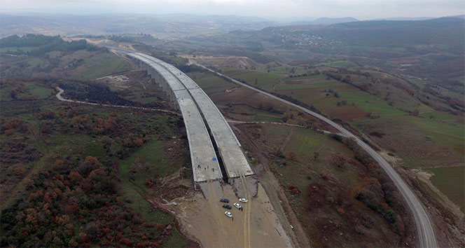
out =
[[[316,206],[309,206],[308,195],[312,195],[312,193],[314,193],[314,189],[310,188],[309,185],[317,184],[318,190],[325,187],[332,188],[331,191],[327,191],[327,194],[324,195],[321,202],[325,202],[327,199],[340,199],[340,191],[338,187],[333,183],[328,183],[328,181],[322,180],[321,174],[331,175],[331,177],[337,178],[336,181],[338,181],[338,184],[343,185],[343,187],[348,190],[357,186],[363,179],[359,168],[347,164],[342,167],[336,167],[331,164],[331,156],[333,154],[341,153],[344,154],[346,158],[349,158],[350,156],[353,156],[352,151],[347,149],[344,145],[335,142],[335,140],[331,139],[331,137],[321,135],[317,132],[313,132],[312,130],[276,125],[262,125],[261,128],[263,130],[262,136],[268,137],[267,139],[269,139],[270,143],[278,144],[278,146],[282,144],[284,153],[287,151],[294,151],[296,153],[297,161],[287,159],[275,160],[273,161],[274,163],[270,163],[270,168],[272,172],[275,172],[279,183],[284,187],[284,191],[289,198],[289,202],[296,214],[298,214],[300,221],[302,221],[303,228],[306,232],[311,235],[311,237],[312,235],[320,235],[318,239],[322,239],[321,231],[326,233],[328,232],[328,230],[321,230],[322,226],[315,226],[316,219],[318,219],[318,221],[325,219],[325,223],[328,223],[328,221],[331,220],[334,223],[344,223],[342,226],[347,225],[347,223],[345,223],[347,218],[345,216],[340,216],[337,212],[337,209],[341,207],[338,205],[340,204],[338,200],[335,200],[335,202],[331,204],[331,207],[326,207],[323,214],[322,212],[318,212],[318,210],[313,212],[313,209],[318,209],[321,206],[316,204]],[[289,135],[291,135],[290,138],[286,139]],[[313,158],[315,152],[319,153],[317,159]],[[282,161],[285,161],[286,164],[279,165],[279,162],[282,163]],[[298,195],[292,195],[288,188],[290,185],[296,186],[300,193]],[[359,207],[359,202],[356,202],[356,200],[351,197],[348,196],[345,200],[350,201],[350,203],[345,202],[343,204],[345,206],[342,206],[343,208],[347,207],[347,211],[354,206],[356,206],[354,208]],[[392,235],[390,231],[387,230],[387,227],[384,225],[379,216],[376,216],[376,214],[373,215],[373,212],[370,210],[364,211],[369,211],[371,218],[375,219],[378,223],[375,228],[376,232],[373,233],[377,233],[376,235],[382,236],[380,240]],[[312,214],[318,214],[318,216],[311,216],[308,214],[309,212]],[[328,223],[328,227],[331,226],[331,223]],[[338,237],[333,237],[334,240],[331,240],[331,242],[343,242],[344,244],[354,247],[361,245],[361,243],[357,241],[360,238],[359,235],[354,235],[352,233],[349,234],[347,229],[343,227],[339,227],[337,230],[343,231],[344,237],[339,237],[337,235]],[[328,237],[327,235],[332,236],[333,233],[326,234],[326,237]],[[336,239],[339,241],[335,241]]]

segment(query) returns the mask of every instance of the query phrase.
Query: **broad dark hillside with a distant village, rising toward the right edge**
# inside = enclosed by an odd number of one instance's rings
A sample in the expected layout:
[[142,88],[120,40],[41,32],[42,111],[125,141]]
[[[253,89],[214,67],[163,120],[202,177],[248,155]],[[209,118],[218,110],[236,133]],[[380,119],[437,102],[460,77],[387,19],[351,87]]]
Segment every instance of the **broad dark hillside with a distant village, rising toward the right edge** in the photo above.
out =
[[[188,39],[217,53],[312,63],[338,57],[429,78],[463,92],[465,20],[370,20],[333,25],[291,25]],[[235,55],[238,55],[236,53]],[[264,61],[264,60],[263,60]],[[462,87],[459,87],[460,85]]]

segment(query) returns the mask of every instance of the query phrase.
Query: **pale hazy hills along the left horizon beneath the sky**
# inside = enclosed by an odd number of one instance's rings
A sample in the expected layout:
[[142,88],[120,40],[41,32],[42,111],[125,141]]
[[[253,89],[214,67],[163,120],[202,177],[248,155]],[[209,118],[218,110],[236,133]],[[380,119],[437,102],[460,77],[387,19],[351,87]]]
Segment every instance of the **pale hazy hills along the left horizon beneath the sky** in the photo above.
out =
[[214,34],[258,30],[275,25],[263,18],[238,15],[44,15],[0,14],[0,36],[11,34]]

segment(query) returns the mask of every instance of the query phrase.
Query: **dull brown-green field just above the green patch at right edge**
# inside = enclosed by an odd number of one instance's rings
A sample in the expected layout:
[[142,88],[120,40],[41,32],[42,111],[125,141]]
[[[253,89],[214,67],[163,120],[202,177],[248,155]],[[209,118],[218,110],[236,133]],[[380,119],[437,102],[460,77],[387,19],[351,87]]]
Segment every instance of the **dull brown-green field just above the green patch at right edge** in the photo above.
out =
[[357,130],[374,130],[386,135],[372,137],[384,149],[393,151],[412,168],[463,163],[464,125],[407,115],[352,120]]

